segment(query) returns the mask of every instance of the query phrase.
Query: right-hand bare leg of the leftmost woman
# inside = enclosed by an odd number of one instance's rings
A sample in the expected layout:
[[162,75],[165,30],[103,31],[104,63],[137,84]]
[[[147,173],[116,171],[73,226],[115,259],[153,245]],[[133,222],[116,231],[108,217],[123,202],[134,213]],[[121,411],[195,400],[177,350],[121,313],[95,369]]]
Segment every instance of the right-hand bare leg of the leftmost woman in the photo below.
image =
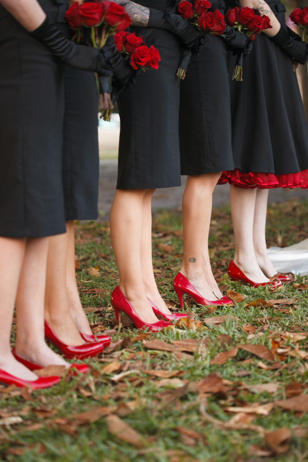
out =
[[28,238],[16,297],[16,352],[44,367],[66,365],[45,343],[44,297],[48,238]]

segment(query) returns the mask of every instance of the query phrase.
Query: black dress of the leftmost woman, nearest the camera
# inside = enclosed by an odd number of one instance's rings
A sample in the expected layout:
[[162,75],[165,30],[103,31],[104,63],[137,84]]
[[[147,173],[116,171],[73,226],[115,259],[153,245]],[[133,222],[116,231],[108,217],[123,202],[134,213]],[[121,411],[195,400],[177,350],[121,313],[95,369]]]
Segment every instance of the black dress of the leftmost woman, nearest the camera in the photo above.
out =
[[[66,0],[38,2],[51,20],[63,20]],[[0,7],[0,236],[65,232],[64,70]]]

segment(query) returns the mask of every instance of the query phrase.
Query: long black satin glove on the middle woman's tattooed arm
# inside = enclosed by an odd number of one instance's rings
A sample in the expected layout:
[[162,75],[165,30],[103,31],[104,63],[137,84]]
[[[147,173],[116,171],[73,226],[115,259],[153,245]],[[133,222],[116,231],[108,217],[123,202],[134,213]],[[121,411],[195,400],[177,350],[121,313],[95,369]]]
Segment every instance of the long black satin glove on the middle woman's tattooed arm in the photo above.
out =
[[200,31],[192,26],[192,24],[188,23],[182,16],[167,11],[155,10],[153,8],[149,8],[149,10],[150,15],[147,27],[174,32],[182,41],[182,46],[191,50],[193,53],[202,49],[202,42],[204,39]]

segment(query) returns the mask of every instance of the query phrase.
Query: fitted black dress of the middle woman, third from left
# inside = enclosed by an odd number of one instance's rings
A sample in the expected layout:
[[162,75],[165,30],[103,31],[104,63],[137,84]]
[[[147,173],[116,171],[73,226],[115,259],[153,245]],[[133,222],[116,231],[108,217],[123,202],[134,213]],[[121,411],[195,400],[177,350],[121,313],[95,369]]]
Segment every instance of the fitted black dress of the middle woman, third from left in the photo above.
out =
[[[142,0],[164,10],[164,0]],[[176,12],[177,8],[169,8]],[[172,33],[131,28],[147,46],[158,48],[159,69],[141,72],[118,100],[121,119],[118,189],[165,188],[181,185],[179,152],[180,80],[176,73],[181,47]]]

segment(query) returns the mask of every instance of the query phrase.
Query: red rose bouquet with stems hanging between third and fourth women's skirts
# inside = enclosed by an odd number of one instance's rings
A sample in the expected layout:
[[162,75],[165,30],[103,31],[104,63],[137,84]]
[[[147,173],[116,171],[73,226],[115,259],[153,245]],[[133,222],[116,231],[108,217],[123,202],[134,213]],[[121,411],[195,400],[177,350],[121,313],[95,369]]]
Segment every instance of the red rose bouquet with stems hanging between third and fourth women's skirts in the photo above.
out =
[[[224,17],[219,10],[208,11],[210,8],[211,4],[208,0],[195,0],[193,4],[188,0],[183,0],[178,5],[180,16],[197,29],[208,34],[220,35],[225,30]],[[191,51],[184,50],[177,73],[179,79],[185,79],[190,57]]]

